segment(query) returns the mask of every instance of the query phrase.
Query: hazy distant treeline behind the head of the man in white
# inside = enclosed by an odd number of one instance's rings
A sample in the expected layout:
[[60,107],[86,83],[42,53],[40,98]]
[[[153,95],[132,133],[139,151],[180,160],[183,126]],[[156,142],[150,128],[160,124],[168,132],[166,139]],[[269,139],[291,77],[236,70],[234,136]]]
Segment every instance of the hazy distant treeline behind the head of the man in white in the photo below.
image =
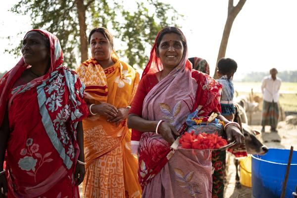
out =
[[[235,74],[236,75],[236,74]],[[264,76],[268,76],[269,72],[251,72],[246,74],[242,79],[242,82],[261,82]],[[281,78],[283,82],[297,82],[297,70],[296,71],[280,71],[277,77]]]

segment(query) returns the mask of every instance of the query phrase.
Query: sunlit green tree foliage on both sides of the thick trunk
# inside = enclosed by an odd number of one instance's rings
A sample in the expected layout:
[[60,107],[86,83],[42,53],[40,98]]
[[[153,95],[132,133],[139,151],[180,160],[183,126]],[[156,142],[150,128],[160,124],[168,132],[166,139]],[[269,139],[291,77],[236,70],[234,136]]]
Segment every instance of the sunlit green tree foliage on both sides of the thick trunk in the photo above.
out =
[[[11,11],[30,14],[32,27],[46,29],[56,35],[64,52],[68,66],[76,66],[80,60],[80,25],[78,22],[78,0],[20,0]],[[86,8],[86,35],[94,27],[106,27],[114,33],[123,46],[118,53],[128,58],[130,65],[145,66],[147,49],[161,28],[175,25],[181,15],[170,5],[158,0],[140,1],[135,11],[126,8],[122,0],[84,0]],[[133,1],[130,2],[133,4]],[[19,55],[21,44],[6,52]]]

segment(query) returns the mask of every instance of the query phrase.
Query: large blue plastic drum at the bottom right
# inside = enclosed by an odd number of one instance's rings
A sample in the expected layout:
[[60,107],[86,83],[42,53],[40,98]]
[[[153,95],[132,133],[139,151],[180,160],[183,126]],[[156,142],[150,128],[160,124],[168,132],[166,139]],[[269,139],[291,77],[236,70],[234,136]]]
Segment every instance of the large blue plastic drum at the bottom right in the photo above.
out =
[[[254,198],[280,198],[290,150],[269,148],[265,155],[252,155],[251,183]],[[293,151],[285,198],[293,198],[297,185],[297,151]]]

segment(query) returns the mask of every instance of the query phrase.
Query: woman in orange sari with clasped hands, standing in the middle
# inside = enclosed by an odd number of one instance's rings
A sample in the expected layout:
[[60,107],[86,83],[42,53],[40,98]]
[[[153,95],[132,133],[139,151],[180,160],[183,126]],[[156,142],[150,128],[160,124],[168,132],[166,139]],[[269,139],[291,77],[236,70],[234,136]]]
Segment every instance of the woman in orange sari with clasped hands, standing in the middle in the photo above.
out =
[[137,159],[131,154],[131,130],[126,118],[139,83],[139,74],[120,61],[105,28],[89,35],[92,58],[77,72],[86,85],[91,116],[83,120],[86,198],[139,198]]

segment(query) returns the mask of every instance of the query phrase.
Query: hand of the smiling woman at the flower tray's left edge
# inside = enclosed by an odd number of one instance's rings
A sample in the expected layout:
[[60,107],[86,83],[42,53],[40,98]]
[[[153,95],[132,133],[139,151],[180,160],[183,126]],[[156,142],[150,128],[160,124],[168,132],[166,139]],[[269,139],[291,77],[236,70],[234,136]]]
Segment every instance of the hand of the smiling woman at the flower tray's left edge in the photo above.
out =
[[176,131],[174,126],[172,126],[168,122],[160,123],[158,134],[160,134],[162,138],[166,140],[170,145],[172,145],[175,141],[175,137],[179,136],[179,133]]

